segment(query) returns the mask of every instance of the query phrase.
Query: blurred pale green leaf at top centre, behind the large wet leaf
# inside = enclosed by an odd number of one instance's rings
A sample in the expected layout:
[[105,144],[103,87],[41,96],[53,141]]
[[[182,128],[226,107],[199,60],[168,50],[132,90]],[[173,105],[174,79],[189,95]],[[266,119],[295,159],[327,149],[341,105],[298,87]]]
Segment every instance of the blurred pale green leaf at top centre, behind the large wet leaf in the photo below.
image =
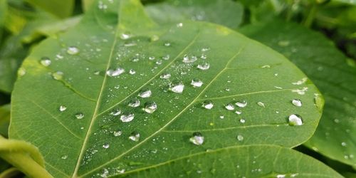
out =
[[145,6],[147,14],[158,23],[179,23],[184,20],[210,21],[229,28],[242,22],[243,6],[231,0],[164,1]]

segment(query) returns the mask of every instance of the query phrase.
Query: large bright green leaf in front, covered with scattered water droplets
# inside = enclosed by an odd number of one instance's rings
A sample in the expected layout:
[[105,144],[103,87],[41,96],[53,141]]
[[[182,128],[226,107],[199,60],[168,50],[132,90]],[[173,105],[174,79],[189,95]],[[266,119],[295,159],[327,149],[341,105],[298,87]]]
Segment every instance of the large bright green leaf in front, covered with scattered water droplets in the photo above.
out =
[[[9,135],[36,145],[54,177],[133,171],[235,145],[294,147],[313,135],[323,107],[315,85],[279,53],[211,23],[156,26],[136,0],[95,3],[78,26],[33,48],[19,73]],[[128,106],[135,98],[141,105]],[[152,114],[142,110],[150,102]],[[122,122],[129,112],[134,119]],[[303,125],[288,125],[293,114]]]

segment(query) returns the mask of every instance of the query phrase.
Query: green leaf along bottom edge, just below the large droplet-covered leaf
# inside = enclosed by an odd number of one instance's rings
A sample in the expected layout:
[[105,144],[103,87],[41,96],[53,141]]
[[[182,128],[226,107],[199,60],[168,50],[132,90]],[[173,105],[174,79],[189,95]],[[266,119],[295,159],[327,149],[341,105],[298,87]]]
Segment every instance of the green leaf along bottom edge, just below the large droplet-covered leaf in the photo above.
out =
[[312,157],[272,145],[239,146],[201,152],[164,162],[155,167],[143,167],[125,172],[123,177],[125,175],[130,177],[342,177]]

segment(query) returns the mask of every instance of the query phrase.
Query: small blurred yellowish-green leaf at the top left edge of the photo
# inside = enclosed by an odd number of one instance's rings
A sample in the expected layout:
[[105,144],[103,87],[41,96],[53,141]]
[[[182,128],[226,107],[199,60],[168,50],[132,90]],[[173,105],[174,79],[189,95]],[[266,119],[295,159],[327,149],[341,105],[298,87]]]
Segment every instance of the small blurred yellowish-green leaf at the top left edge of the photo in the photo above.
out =
[[37,6],[60,18],[66,18],[73,13],[74,0],[26,0],[33,6]]

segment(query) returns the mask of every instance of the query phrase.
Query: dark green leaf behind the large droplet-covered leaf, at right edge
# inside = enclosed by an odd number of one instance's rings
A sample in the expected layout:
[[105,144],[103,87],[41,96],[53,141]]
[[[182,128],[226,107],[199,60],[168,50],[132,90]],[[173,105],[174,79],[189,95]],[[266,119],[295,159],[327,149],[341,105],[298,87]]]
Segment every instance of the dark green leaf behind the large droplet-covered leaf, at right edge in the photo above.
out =
[[355,66],[349,66],[347,58],[323,35],[294,23],[273,21],[241,31],[290,58],[323,93],[323,117],[306,145],[355,166]]

